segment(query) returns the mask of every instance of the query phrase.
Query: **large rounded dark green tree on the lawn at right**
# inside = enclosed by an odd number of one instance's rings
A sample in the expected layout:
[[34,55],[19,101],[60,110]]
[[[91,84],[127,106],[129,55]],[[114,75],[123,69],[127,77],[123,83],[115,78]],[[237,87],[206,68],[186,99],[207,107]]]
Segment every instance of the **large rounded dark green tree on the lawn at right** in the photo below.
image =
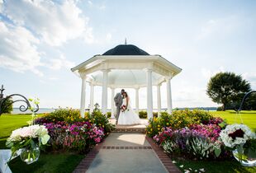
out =
[[208,82],[206,94],[212,101],[222,104],[222,110],[225,110],[226,105],[240,101],[241,96],[250,90],[249,82],[240,75],[219,72]]

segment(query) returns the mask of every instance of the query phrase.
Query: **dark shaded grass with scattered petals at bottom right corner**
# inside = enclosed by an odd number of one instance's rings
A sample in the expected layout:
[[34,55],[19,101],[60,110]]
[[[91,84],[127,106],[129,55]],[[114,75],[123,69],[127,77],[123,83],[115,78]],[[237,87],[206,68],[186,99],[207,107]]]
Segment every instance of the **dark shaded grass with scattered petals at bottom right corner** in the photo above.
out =
[[[173,161],[177,161],[175,164],[178,168],[183,170],[192,169],[190,172],[197,172],[199,169],[204,168],[207,173],[253,173],[256,172],[256,167],[241,166],[238,161],[178,161],[173,158]],[[180,166],[183,165],[183,168]]]

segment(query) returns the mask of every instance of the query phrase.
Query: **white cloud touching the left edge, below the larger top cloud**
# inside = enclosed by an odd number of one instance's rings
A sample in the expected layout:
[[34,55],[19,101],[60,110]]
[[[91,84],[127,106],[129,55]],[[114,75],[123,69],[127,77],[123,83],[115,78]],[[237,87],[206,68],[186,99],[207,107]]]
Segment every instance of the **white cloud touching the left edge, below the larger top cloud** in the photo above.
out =
[[43,75],[36,69],[41,65],[40,53],[36,48],[40,40],[36,39],[29,30],[0,21],[0,38],[0,67],[15,72],[29,70],[40,76]]

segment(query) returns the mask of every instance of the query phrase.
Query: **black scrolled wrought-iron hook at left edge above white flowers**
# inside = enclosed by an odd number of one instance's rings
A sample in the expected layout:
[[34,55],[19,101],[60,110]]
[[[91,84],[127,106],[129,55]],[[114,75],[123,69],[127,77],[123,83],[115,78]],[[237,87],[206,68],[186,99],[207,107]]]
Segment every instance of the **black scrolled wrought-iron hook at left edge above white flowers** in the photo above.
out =
[[[26,110],[28,110],[29,108],[31,108],[30,102],[26,99],[25,96],[22,96],[22,95],[20,95],[20,94],[12,94],[12,95],[10,95],[10,96],[6,96],[5,98],[3,98],[2,92],[3,92],[4,90],[5,90],[5,89],[3,88],[3,85],[2,85],[2,87],[1,87],[1,89],[0,89],[0,91],[1,91],[1,92],[0,92],[0,116],[2,115],[2,113],[4,112],[4,110],[7,109],[7,107],[8,107],[9,105],[12,105],[13,103],[18,102],[18,101],[24,102],[24,104],[25,104],[25,105],[21,105],[21,106],[20,106],[19,109],[21,110],[21,112],[25,112]],[[11,103],[6,104],[6,102],[8,101],[8,99],[11,99],[12,96],[19,96],[19,97],[21,97],[21,99],[18,99],[17,101],[12,101]],[[38,110],[39,110],[39,106],[36,105],[36,110],[33,110],[33,112],[37,112]]]

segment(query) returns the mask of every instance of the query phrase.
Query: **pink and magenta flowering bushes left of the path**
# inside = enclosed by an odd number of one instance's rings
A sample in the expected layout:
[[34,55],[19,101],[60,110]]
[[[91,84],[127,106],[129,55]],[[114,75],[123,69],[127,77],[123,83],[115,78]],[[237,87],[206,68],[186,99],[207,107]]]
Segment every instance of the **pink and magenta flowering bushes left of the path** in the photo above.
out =
[[88,152],[104,138],[104,129],[90,122],[67,124],[63,121],[44,124],[50,134],[50,145],[54,150]]

